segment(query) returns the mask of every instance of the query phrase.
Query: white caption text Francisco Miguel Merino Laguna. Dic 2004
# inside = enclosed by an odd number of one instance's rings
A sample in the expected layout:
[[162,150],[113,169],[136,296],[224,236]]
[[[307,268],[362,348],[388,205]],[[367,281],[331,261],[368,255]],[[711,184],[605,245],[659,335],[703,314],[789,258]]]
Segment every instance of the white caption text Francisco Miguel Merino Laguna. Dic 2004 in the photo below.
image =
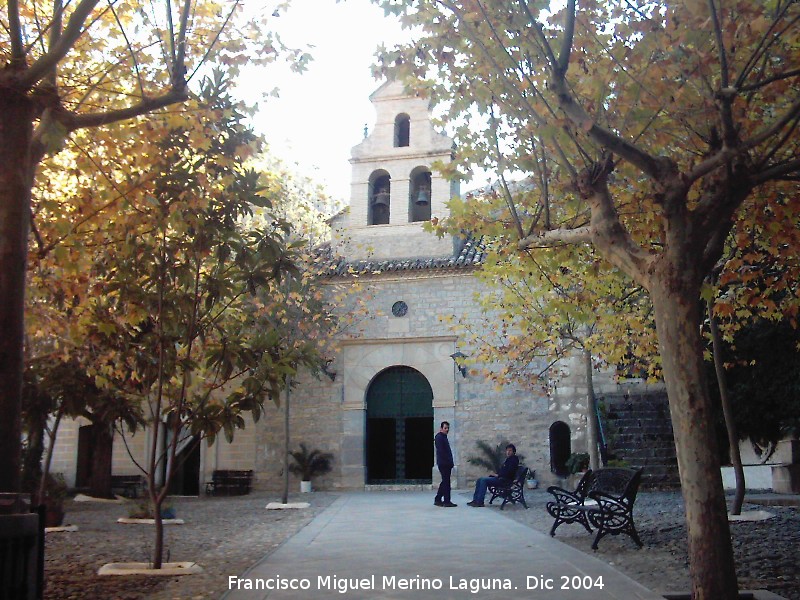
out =
[[[380,587],[379,587],[380,586]],[[561,576],[549,578],[528,575],[525,577],[525,589],[528,590],[564,590],[564,589],[602,589],[603,577]],[[369,577],[339,577],[337,575],[317,575],[316,577],[281,577],[275,575],[268,578],[247,578],[230,575],[229,590],[331,590],[346,594],[355,590],[464,590],[477,594],[484,590],[515,590],[517,586],[511,579],[461,577],[397,577],[395,575],[376,575]]]

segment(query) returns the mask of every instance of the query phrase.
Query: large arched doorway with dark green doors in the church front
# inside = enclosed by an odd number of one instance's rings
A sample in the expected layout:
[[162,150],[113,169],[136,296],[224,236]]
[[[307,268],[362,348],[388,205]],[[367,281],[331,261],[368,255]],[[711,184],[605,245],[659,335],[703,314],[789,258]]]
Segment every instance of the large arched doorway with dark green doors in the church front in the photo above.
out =
[[411,367],[390,367],[367,390],[367,483],[430,483],[433,390]]

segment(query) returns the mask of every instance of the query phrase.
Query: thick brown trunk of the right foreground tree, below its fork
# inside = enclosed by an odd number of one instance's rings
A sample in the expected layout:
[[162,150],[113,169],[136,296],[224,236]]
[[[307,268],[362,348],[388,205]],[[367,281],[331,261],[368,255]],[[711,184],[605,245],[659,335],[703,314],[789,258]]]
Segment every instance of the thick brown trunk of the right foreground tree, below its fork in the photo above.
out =
[[675,265],[668,269],[655,274],[650,296],[686,507],[692,598],[732,600],[738,594],[736,571],[703,370],[699,278],[675,276],[681,272]]

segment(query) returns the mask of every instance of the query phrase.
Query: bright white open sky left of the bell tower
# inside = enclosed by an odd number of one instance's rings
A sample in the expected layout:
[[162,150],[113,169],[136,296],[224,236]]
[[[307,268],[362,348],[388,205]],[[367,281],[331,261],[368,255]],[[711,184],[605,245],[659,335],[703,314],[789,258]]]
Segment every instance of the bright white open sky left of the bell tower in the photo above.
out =
[[[265,3],[266,4],[266,3]],[[288,46],[312,45],[314,60],[303,74],[280,65],[247,72],[243,99],[258,101],[253,118],[274,156],[325,185],[340,202],[350,200],[350,149],[372,130],[375,111],[369,95],[381,81],[370,65],[380,43],[390,46],[410,34],[369,0],[293,0],[276,17],[275,28]],[[260,99],[277,87],[279,98]]]

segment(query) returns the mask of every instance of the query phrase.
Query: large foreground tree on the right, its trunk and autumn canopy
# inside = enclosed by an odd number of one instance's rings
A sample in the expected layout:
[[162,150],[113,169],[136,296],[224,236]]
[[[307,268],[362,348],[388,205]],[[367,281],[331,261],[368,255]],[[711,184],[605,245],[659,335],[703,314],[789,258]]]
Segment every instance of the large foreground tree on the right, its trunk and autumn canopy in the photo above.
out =
[[[653,306],[694,598],[736,577],[700,337],[700,292],[734,226],[797,240],[800,5],[791,0],[377,0],[416,27],[378,70],[444,106],[503,192],[518,249],[591,244]],[[483,123],[483,126],[479,124]],[[753,212],[786,218],[748,226]]]

